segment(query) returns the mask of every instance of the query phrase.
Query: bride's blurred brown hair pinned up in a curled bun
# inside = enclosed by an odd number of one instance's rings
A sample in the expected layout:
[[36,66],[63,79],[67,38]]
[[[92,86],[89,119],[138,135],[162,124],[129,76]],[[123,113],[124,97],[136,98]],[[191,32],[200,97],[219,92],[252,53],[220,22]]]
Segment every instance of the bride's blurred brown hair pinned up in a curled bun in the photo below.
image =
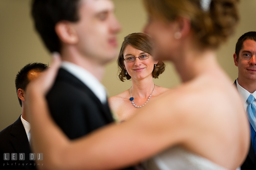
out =
[[[202,48],[218,48],[238,23],[239,0],[144,0],[150,15],[173,21],[188,16],[195,38]],[[202,3],[208,2],[204,9]]]

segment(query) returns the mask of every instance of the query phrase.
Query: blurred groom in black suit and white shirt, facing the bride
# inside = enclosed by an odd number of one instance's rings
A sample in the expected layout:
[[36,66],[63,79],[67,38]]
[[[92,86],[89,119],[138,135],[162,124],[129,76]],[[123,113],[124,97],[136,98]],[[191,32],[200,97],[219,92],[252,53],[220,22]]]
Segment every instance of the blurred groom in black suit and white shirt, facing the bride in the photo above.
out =
[[47,94],[50,112],[70,139],[113,122],[105,87],[105,66],[118,54],[121,27],[111,0],[34,0],[35,27],[62,66]]

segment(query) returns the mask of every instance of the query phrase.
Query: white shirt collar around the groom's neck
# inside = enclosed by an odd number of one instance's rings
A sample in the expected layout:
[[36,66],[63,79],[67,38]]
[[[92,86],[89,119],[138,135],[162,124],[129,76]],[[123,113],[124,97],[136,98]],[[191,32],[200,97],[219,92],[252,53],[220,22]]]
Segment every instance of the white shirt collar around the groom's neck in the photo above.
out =
[[101,103],[104,104],[107,102],[105,87],[98,81],[98,79],[94,75],[92,75],[92,73],[85,70],[85,68],[68,61],[62,62],[62,68],[64,68],[66,71],[70,72],[81,82],[83,82],[96,95]]

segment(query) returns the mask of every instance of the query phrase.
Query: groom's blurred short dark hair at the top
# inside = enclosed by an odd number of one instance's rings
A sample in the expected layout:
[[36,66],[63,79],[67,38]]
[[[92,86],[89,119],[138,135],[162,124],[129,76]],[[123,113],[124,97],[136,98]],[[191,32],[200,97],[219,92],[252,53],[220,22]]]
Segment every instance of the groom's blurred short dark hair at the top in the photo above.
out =
[[80,0],[33,0],[32,16],[34,26],[41,35],[50,52],[60,52],[61,43],[55,32],[59,21],[76,22],[79,20]]

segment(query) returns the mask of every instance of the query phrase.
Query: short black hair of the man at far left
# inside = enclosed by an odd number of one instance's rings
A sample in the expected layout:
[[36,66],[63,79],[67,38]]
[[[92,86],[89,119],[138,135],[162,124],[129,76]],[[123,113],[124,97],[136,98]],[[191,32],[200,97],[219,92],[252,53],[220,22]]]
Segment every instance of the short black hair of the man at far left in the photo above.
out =
[[[23,89],[24,91],[27,88],[28,83],[30,82],[28,79],[28,72],[30,70],[35,70],[38,72],[43,72],[46,68],[48,68],[48,65],[43,64],[41,62],[33,62],[33,63],[28,63],[26,66],[21,68],[21,70],[18,72],[15,78],[15,87],[16,87],[16,93],[18,89]],[[22,107],[21,104],[21,99],[18,98],[20,102],[20,106]]]

